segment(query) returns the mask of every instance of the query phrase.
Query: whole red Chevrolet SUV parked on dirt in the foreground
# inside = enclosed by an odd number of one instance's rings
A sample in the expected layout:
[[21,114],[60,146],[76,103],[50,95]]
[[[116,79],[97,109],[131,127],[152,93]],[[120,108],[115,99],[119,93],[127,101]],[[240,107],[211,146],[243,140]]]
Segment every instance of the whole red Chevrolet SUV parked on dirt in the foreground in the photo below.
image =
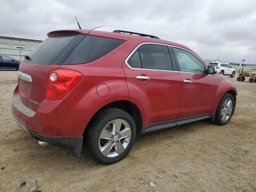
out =
[[112,164],[136,134],[202,119],[227,124],[237,91],[190,48],[152,34],[113,28],[49,32],[18,70],[17,124],[40,146],[83,141]]

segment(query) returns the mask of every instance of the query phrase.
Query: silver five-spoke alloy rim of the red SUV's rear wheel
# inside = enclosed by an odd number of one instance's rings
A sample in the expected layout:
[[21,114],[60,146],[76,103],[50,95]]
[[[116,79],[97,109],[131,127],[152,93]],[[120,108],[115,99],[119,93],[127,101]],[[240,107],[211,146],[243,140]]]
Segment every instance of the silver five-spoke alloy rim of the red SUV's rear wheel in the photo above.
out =
[[120,155],[128,146],[131,134],[131,128],[128,122],[123,119],[112,120],[100,133],[100,152],[105,157]]

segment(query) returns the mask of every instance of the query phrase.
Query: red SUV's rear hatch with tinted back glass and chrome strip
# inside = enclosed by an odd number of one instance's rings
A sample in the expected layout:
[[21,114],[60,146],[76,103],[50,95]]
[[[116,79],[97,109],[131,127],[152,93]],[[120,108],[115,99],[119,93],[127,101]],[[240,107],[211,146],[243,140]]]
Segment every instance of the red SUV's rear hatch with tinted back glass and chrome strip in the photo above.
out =
[[[89,32],[84,30],[83,32]],[[63,34],[64,33],[64,34]],[[75,31],[48,33],[48,38],[20,63],[18,90],[21,102],[36,111],[45,98],[48,73],[60,67],[64,57],[86,36]]]

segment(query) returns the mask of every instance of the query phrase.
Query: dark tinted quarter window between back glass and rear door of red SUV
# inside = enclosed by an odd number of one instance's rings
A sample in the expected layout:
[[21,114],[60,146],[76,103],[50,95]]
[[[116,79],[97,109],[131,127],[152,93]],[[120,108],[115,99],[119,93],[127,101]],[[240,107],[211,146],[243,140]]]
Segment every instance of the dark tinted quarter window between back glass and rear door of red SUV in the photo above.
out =
[[92,62],[108,54],[124,40],[87,35],[62,64],[82,64]]

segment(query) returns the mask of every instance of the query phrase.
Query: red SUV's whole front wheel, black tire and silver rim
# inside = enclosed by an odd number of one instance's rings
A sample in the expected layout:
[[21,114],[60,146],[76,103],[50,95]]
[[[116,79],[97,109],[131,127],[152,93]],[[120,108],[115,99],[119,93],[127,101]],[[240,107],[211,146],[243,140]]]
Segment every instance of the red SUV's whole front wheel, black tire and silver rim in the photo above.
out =
[[234,110],[234,97],[232,94],[226,93],[220,100],[220,103],[216,110],[215,123],[218,125],[226,125],[230,121],[232,115],[234,114]]

